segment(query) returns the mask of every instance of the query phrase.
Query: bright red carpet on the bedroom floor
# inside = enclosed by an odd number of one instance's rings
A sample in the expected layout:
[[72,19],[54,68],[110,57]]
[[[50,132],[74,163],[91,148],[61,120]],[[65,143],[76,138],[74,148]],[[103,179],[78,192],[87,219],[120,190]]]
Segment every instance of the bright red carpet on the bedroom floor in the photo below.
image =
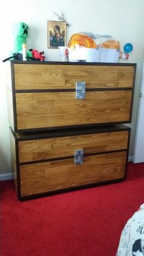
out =
[[[115,256],[125,222],[144,201],[144,164],[121,183],[18,201],[1,187],[1,256]],[[121,255],[122,256],[122,255]]]

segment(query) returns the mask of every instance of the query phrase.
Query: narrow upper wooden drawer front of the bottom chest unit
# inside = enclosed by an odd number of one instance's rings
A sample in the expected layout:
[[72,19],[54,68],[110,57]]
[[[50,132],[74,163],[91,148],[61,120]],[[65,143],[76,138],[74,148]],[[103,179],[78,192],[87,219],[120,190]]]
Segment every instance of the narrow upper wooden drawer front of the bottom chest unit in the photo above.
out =
[[84,155],[128,148],[129,132],[105,132],[69,137],[19,141],[20,163],[74,156],[76,149]]

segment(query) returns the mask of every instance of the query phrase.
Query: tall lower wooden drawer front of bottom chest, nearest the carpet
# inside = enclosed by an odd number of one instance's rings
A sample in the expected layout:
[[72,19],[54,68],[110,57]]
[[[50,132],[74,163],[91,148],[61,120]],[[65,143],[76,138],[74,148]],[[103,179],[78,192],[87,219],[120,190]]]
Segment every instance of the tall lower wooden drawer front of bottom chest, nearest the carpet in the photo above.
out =
[[20,166],[21,197],[49,191],[121,179],[125,176],[126,152]]

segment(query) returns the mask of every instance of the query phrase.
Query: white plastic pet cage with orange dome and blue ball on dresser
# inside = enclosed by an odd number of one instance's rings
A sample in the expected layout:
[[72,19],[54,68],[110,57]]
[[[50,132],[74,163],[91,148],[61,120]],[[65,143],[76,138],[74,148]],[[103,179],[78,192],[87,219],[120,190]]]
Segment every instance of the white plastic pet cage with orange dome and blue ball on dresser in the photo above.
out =
[[88,31],[73,34],[68,42],[70,61],[118,62],[120,58],[129,58],[132,44],[126,43],[123,50],[120,50],[120,42],[112,36]]

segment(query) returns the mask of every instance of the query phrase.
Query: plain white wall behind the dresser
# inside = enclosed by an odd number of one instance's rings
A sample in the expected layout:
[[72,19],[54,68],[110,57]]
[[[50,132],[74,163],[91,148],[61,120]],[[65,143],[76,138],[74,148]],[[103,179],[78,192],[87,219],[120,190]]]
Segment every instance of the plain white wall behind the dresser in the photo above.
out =
[[[143,0],[5,0],[1,6],[0,61],[12,50],[12,24],[23,21],[29,25],[28,48],[45,51],[46,60],[58,60],[59,51],[47,48],[47,20],[57,20],[54,12],[63,12],[71,27],[70,36],[79,31],[110,34],[124,43],[131,42],[134,50],[126,61],[137,63],[130,152],[134,149],[135,124],[139,101],[140,79],[144,53],[144,1]],[[10,172],[9,123],[7,121],[7,100],[4,77],[4,63],[0,62],[0,173]]]

